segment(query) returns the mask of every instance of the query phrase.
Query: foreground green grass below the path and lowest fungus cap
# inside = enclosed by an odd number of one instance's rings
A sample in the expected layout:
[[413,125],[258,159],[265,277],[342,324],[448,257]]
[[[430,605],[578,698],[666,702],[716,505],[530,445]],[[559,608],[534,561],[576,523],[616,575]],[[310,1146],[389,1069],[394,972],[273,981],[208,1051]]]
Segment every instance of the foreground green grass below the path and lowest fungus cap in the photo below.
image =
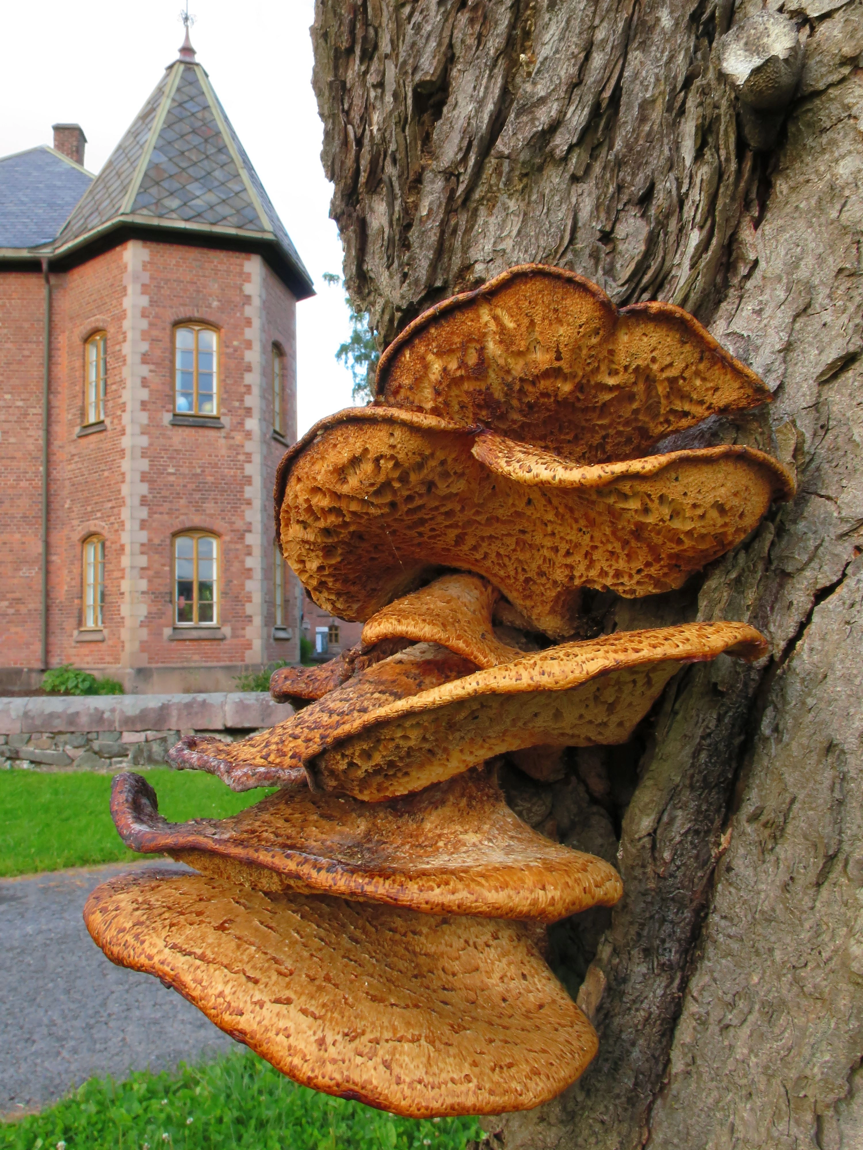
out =
[[91,1079],[0,1124],[0,1150],[464,1150],[474,1119],[417,1121],[295,1086],[249,1051],[177,1073]]

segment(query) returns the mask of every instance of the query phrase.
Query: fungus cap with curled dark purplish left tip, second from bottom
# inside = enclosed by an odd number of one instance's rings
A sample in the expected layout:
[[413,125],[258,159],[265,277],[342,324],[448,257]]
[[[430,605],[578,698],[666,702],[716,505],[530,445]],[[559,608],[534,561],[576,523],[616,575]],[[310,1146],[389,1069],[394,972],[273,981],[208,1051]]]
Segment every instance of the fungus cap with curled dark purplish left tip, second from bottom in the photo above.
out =
[[184,823],[160,816],[142,775],[120,774],[110,812],[131,850],[170,854],[257,890],[543,922],[613,906],[623,894],[608,862],[522,822],[506,805],[492,765],[388,803],[293,784],[230,819]]

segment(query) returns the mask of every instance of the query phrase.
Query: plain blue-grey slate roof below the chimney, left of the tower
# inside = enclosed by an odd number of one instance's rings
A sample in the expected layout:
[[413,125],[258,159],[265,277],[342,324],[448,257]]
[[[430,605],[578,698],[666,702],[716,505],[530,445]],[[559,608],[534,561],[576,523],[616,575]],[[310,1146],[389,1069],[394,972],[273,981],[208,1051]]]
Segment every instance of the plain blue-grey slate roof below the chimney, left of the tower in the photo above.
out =
[[31,147],[0,159],[0,247],[48,244],[93,182],[53,147]]

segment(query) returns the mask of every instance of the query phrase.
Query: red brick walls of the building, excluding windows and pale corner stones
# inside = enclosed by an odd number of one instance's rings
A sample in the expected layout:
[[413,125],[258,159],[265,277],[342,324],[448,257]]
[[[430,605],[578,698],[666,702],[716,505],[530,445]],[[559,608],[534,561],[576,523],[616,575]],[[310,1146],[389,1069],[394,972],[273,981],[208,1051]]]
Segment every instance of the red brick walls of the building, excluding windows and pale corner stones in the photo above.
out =
[[[129,245],[121,245],[62,275],[52,275],[52,384],[48,507],[48,664],[79,667],[129,666],[122,649],[124,420],[129,365]],[[250,575],[260,561],[246,536],[252,501],[247,497],[251,432],[246,402],[257,386],[253,320],[246,314],[250,256],[184,247],[144,245],[147,297],[143,309],[140,546],[146,557],[142,592],[146,618],[140,650],[132,662],[152,668],[239,665],[250,659],[252,623]],[[281,281],[264,269],[260,316],[261,439],[264,493],[264,652],[267,660],[298,657],[296,597],[285,581],[285,624],[291,643],[270,638],[275,622],[273,586],[272,488],[284,446],[272,437],[270,348],[285,352],[285,409],[289,438],[296,435],[295,301]],[[39,274],[0,274],[0,373],[5,411],[0,438],[0,666],[33,667],[39,658],[40,452],[43,378],[43,299]],[[222,428],[175,427],[173,329],[201,320],[220,332],[220,416]],[[107,332],[106,430],[78,436],[84,396],[84,342]],[[136,451],[138,448],[135,448]],[[184,528],[214,531],[221,540],[220,622],[224,641],[170,641],[171,540]],[[105,642],[76,641],[82,611],[82,542],[101,534],[105,549]],[[250,568],[250,562],[252,567]]]

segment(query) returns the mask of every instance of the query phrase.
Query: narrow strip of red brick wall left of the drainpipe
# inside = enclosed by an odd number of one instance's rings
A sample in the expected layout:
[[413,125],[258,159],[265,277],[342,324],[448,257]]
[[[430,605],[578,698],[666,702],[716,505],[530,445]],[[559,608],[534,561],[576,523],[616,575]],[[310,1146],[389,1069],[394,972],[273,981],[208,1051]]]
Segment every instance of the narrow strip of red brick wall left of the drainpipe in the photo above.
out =
[[44,284],[0,271],[0,665],[38,667]]

